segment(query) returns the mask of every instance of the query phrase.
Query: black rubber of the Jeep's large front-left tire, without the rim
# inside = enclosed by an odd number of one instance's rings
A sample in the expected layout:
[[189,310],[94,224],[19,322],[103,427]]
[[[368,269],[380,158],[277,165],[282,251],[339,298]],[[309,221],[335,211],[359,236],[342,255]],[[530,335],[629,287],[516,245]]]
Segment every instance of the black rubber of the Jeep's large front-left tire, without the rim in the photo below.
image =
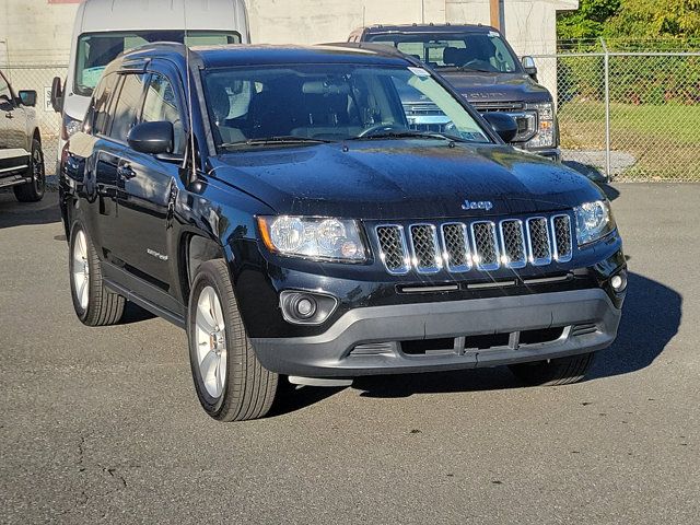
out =
[[[221,304],[225,334],[226,373],[218,397],[207,390],[198,358],[197,307],[202,291],[209,287],[213,288]],[[197,270],[189,298],[187,339],[197,397],[209,416],[219,421],[245,421],[267,415],[277,395],[279,376],[264,369],[255,354],[243,326],[229,269],[222,259],[205,262]]]

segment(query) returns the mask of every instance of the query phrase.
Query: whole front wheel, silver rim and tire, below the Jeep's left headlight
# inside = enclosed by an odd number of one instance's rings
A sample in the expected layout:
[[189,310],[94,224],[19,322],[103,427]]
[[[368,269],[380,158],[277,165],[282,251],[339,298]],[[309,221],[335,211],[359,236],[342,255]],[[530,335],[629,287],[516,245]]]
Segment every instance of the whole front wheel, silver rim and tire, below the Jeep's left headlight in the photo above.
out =
[[205,262],[197,271],[187,337],[197,397],[209,416],[245,421],[267,415],[279,377],[255,355],[222,259]]

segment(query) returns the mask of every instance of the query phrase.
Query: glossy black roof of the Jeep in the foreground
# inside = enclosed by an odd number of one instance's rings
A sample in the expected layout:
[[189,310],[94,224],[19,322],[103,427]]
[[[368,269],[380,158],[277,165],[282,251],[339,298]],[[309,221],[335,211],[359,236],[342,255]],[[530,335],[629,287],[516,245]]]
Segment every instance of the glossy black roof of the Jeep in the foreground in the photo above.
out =
[[[236,66],[272,66],[284,63],[366,63],[375,66],[407,66],[415,60],[386,46],[329,44],[323,46],[229,45],[191,48],[190,58],[205,68]],[[182,44],[153,44],[133,49],[121,61],[168,58],[180,62],[185,57]]]

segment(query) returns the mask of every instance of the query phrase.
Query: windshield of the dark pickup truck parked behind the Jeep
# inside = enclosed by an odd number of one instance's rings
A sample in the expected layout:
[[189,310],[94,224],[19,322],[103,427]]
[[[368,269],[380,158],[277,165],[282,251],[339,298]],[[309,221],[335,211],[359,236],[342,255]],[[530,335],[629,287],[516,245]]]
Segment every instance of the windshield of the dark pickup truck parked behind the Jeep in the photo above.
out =
[[517,58],[501,35],[488,33],[390,34],[370,36],[370,42],[387,44],[433,68],[463,68],[489,73],[520,73]]

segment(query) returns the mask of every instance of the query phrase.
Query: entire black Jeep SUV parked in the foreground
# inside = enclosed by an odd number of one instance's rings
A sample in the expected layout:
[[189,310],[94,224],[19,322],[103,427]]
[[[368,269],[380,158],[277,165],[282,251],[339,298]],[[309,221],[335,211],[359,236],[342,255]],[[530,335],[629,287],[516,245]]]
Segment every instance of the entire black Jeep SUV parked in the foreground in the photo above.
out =
[[[450,131],[410,129],[406,91]],[[130,51],[62,155],[75,312],[108,325],[133,301],[184,327],[220,420],[264,416],[279,374],[581,380],[627,285],[609,203],[494,129],[515,132],[392,50]]]

